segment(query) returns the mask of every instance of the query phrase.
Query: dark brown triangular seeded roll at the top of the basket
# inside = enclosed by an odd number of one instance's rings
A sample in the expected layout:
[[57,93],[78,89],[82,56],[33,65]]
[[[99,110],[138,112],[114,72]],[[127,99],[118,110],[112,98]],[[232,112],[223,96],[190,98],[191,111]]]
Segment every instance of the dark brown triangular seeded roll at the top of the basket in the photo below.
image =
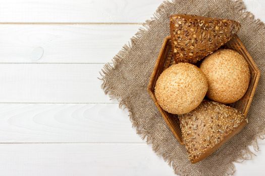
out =
[[196,63],[228,42],[240,24],[233,20],[194,15],[170,16],[170,36],[176,63]]

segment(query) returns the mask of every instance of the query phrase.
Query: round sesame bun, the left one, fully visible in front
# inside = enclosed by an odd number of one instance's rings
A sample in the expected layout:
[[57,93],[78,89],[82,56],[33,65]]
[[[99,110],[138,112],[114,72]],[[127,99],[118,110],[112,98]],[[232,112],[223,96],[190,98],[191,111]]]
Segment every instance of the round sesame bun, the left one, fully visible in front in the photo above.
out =
[[172,114],[185,114],[195,109],[207,92],[207,79],[190,63],[172,65],[158,77],[154,94],[158,104]]

